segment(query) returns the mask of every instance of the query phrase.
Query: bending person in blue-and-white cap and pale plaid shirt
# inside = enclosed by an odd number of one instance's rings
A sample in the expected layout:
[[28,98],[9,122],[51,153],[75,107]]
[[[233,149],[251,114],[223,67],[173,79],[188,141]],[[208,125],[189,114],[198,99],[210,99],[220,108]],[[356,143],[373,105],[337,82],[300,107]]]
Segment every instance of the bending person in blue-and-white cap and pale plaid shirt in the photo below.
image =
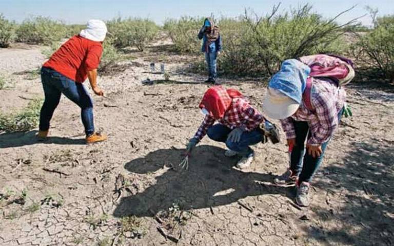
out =
[[[290,152],[290,167],[275,178],[274,183],[286,186],[296,184],[295,202],[300,206],[308,206],[309,183],[322,163],[328,142],[339,125],[346,92],[329,78],[313,78],[313,83],[309,85],[311,89],[304,91],[303,88],[308,87],[306,78],[309,67],[291,59],[282,64],[281,70],[286,73],[294,67],[299,67],[299,70],[291,74],[277,73],[270,80],[263,109],[268,117],[281,120]],[[306,93],[310,93],[308,102]],[[307,106],[309,104],[311,107]]]

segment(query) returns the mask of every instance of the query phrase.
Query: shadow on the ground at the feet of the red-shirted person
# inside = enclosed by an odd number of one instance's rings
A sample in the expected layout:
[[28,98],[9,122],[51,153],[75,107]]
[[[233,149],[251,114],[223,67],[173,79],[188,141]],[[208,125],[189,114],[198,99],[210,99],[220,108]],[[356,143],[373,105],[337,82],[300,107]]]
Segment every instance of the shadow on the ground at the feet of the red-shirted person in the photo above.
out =
[[48,137],[45,141],[38,141],[35,135],[36,130],[27,131],[23,133],[4,133],[0,134],[0,148],[11,148],[21,147],[33,144],[61,144],[61,145],[72,145],[72,144],[86,144],[85,139],[71,139],[71,138],[60,138],[60,137]]

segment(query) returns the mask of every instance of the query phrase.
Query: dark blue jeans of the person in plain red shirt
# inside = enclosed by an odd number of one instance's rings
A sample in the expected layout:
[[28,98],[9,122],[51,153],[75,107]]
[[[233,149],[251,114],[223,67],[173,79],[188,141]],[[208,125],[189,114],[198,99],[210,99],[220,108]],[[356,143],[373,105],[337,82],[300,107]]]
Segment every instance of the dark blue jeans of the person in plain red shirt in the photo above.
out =
[[81,108],[82,123],[86,136],[94,133],[93,101],[82,83],[76,83],[50,68],[41,69],[41,82],[45,101],[40,113],[40,130],[48,130],[53,112],[60,102],[62,93]]

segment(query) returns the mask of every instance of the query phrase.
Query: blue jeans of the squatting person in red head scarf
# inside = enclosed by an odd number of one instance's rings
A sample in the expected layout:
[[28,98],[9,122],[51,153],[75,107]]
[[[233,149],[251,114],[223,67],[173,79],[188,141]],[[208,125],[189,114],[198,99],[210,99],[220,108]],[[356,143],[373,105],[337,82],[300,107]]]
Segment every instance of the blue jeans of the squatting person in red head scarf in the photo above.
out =
[[252,131],[245,131],[239,142],[232,142],[227,140],[231,129],[222,124],[216,124],[208,128],[207,135],[210,139],[217,142],[226,143],[226,146],[237,152],[240,156],[250,157],[253,155],[253,150],[250,145],[258,144],[263,140],[263,134],[259,129]]

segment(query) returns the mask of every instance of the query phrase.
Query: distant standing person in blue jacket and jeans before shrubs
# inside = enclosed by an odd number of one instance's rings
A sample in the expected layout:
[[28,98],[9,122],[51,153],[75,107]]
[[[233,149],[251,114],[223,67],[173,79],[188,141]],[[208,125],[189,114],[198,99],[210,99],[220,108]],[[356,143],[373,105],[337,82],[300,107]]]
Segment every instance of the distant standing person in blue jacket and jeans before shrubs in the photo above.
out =
[[201,51],[205,53],[205,60],[208,65],[209,78],[204,83],[215,84],[218,73],[216,72],[216,58],[222,50],[222,37],[219,33],[219,27],[215,26],[208,18],[205,19],[201,28],[199,39],[203,40]]

